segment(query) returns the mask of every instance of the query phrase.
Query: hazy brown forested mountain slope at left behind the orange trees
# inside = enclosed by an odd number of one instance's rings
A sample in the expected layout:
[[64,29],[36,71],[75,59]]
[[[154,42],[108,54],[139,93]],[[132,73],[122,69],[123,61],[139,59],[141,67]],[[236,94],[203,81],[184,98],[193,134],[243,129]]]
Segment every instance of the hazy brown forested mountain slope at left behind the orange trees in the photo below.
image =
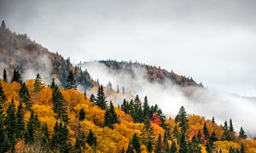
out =
[[0,28],[0,71],[6,69],[9,80],[13,71],[20,71],[21,76],[27,78],[36,77],[39,73],[46,82],[51,77],[65,87],[67,74],[73,71],[77,82],[83,88],[92,88],[96,85],[87,71],[81,71],[79,67],[73,66],[70,59],[64,59],[61,54],[51,53],[37,42],[32,41],[26,34],[16,34],[7,28]]

